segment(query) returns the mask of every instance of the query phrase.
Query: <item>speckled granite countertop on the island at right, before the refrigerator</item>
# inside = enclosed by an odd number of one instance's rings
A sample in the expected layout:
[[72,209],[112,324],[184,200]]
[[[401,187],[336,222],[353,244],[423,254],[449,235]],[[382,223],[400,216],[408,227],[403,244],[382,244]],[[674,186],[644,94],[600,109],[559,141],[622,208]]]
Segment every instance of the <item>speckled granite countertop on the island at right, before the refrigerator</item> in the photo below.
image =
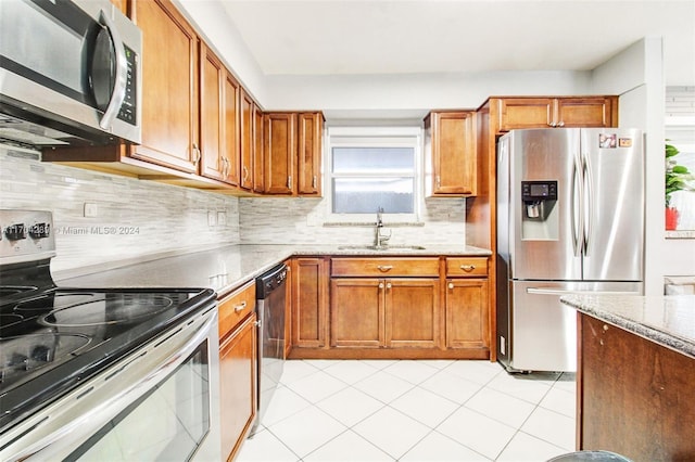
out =
[[560,301],[695,358],[695,295],[566,295]]

